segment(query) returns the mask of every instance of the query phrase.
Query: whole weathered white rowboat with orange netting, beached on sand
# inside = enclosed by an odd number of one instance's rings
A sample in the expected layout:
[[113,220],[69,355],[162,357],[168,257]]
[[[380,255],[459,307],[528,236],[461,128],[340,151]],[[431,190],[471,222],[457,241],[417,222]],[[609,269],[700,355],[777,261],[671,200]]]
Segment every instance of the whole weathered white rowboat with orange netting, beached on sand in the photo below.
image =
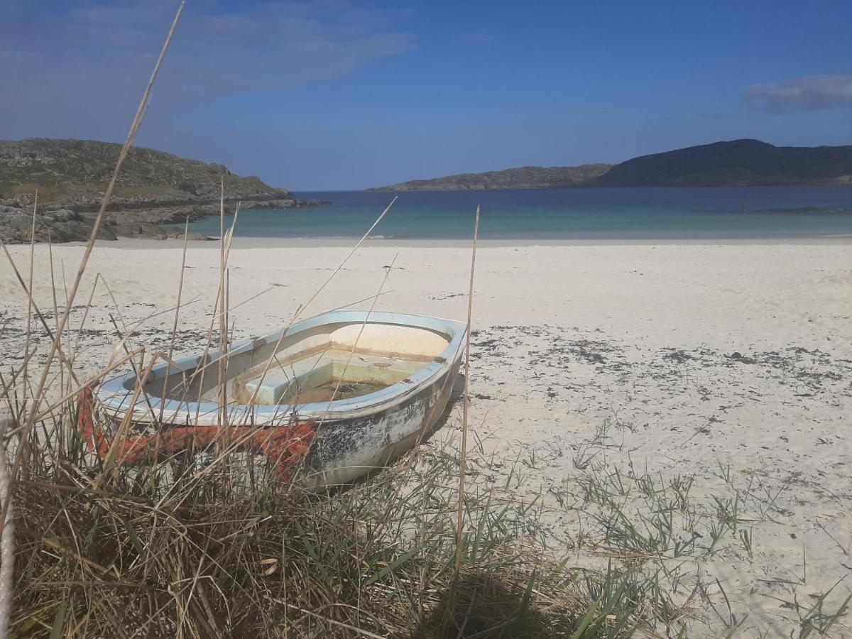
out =
[[435,427],[465,331],[422,315],[332,311],[87,389],[78,423],[89,446],[125,463],[225,439],[279,469],[300,463],[308,486],[345,484]]

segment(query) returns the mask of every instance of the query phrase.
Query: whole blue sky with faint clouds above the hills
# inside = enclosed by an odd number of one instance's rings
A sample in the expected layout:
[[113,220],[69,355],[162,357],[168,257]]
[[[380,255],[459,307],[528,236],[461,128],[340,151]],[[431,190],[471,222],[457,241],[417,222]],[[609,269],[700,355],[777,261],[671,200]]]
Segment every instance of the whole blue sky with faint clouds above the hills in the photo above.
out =
[[[0,8],[0,138],[121,141],[177,8]],[[139,144],[298,190],[852,144],[852,2],[189,0]]]

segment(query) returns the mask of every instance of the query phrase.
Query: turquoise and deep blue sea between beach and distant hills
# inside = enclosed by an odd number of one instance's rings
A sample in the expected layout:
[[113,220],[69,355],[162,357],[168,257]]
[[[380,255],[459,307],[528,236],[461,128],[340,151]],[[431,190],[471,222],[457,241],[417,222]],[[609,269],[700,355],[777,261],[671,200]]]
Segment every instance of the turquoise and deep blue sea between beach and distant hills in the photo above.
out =
[[[849,187],[641,187],[398,193],[373,235],[468,239],[756,239],[852,235]],[[242,237],[360,237],[394,193],[296,193],[332,204],[239,214]],[[232,216],[226,223],[230,225]],[[190,230],[218,235],[219,219]]]

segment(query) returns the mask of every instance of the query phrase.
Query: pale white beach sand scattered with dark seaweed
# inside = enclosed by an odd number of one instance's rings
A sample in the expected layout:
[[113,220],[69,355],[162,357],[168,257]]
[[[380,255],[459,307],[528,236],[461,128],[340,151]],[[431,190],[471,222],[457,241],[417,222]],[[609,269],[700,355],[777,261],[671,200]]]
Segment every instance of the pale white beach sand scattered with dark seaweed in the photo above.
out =
[[[235,337],[286,323],[353,244],[239,241]],[[648,542],[637,563],[668,571],[673,597],[694,608],[690,636],[724,636],[733,618],[738,636],[795,636],[832,586],[822,606],[836,610],[852,593],[852,239],[550,244],[480,246],[470,416],[476,448],[493,458],[474,481],[504,482],[519,464],[511,486],[541,499],[540,534],[579,567],[618,555],[615,528],[607,538],[601,524],[613,509],[653,539],[643,521],[659,522],[652,511],[663,501],[676,504],[665,549],[654,556]],[[115,347],[111,313],[134,343],[168,343],[180,246],[97,247],[76,303],[86,303],[95,273],[112,293],[95,291],[81,370],[95,371]],[[25,273],[28,250],[10,247]],[[53,253],[61,305],[83,248]],[[206,337],[218,259],[213,243],[190,245],[181,354]],[[368,308],[394,263],[377,310],[463,319],[469,260],[463,243],[372,241],[307,313]],[[48,264],[37,247],[36,298],[52,316]],[[82,317],[73,311],[75,329]],[[25,318],[3,260],[3,371],[20,363]],[[436,436],[458,437],[458,414]],[[677,505],[683,486],[687,504]],[[693,590],[709,601],[690,599]],[[852,621],[843,623],[832,633],[852,636]]]

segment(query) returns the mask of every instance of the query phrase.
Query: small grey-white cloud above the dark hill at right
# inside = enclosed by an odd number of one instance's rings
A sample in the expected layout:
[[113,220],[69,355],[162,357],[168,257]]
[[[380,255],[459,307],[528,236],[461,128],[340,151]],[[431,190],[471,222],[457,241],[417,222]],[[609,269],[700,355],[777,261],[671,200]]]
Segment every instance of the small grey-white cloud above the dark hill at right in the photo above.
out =
[[752,84],[742,101],[757,111],[779,113],[852,106],[852,76],[804,76],[777,84]]

